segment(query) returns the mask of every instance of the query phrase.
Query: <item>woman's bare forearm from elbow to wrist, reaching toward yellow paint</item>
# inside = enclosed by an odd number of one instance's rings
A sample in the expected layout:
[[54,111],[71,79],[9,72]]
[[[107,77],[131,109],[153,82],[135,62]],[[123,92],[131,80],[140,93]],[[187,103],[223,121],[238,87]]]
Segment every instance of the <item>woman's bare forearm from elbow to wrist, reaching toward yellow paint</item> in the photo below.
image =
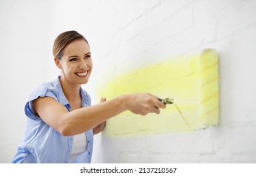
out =
[[77,135],[98,124],[106,121],[117,114],[127,110],[128,96],[120,96],[115,99],[96,104],[95,106],[83,107],[64,114],[61,124],[61,134],[65,136]]

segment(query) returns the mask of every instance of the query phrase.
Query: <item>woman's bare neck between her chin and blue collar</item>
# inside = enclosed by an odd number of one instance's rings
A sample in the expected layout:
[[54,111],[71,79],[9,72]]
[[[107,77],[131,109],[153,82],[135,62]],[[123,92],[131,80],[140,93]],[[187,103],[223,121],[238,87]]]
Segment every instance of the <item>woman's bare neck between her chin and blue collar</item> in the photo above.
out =
[[72,84],[67,79],[64,79],[63,76],[61,76],[60,82],[61,82],[62,91],[63,91],[64,95],[66,96],[67,101],[73,102],[78,99],[81,99],[81,97],[80,97],[81,85]]

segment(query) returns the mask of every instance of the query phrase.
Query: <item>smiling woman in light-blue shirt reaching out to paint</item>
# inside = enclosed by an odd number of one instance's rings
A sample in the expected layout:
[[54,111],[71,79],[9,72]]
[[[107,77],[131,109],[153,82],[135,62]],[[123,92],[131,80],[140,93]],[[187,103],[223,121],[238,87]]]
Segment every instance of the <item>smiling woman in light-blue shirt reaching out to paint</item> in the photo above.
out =
[[123,111],[146,115],[160,113],[165,104],[151,94],[127,94],[91,106],[81,88],[90,78],[90,45],[76,31],[57,36],[53,47],[61,76],[40,85],[25,105],[25,136],[13,163],[90,163],[93,135],[105,121]]

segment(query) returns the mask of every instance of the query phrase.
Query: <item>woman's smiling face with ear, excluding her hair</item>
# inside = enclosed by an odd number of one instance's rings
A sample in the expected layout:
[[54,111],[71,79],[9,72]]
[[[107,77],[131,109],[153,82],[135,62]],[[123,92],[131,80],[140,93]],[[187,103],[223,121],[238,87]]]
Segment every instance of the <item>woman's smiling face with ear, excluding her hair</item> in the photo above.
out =
[[74,40],[63,50],[61,60],[54,58],[61,69],[61,79],[71,84],[86,84],[89,80],[93,63],[88,43],[84,40]]

